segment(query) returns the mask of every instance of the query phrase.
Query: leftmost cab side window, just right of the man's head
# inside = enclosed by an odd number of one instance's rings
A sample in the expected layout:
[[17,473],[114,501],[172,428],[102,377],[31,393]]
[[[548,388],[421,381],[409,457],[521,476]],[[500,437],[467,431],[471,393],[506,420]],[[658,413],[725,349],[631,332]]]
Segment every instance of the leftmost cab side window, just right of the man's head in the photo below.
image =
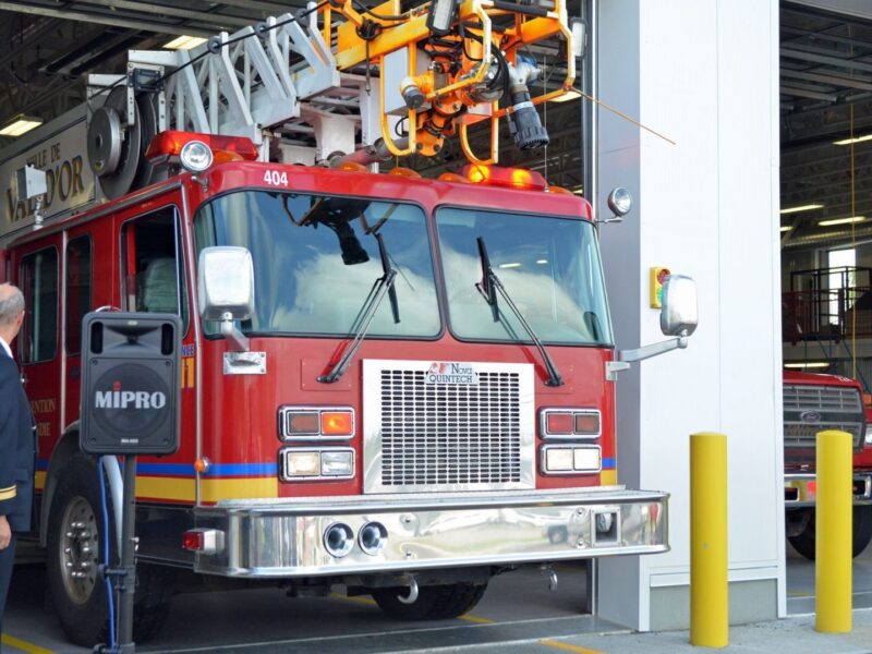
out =
[[22,363],[55,359],[58,349],[58,251],[28,254],[21,261],[25,316],[20,339]]

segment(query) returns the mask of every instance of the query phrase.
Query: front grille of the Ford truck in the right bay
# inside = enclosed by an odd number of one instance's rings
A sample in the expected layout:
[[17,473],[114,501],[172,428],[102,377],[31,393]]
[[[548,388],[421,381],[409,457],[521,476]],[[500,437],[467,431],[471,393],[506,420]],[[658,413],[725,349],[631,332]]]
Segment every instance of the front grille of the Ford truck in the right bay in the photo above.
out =
[[840,386],[784,387],[784,445],[787,463],[814,463],[818,432],[848,432],[861,445],[864,413],[860,391]]

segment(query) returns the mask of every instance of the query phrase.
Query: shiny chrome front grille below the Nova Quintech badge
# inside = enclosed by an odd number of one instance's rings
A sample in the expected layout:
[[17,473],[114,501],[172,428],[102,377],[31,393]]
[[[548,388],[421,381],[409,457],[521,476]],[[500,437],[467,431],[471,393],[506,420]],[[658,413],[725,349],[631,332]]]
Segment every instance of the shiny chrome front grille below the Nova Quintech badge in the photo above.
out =
[[474,383],[428,384],[433,365],[364,362],[365,491],[532,487],[532,366],[461,364]]

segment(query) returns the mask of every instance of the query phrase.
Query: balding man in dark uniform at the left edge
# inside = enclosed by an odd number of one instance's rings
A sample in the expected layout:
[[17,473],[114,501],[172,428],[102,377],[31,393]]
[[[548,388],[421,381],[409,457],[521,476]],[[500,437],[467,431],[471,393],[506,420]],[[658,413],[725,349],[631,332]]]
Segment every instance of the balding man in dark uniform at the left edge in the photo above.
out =
[[24,296],[0,283],[0,632],[15,557],[15,535],[31,530],[36,440],[10,343],[24,322]]

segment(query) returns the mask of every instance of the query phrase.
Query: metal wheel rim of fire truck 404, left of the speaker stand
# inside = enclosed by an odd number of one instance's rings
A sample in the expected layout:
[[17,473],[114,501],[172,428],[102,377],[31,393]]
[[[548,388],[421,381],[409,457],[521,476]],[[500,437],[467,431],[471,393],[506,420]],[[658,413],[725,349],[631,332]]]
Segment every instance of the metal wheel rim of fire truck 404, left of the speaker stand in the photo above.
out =
[[97,517],[90,502],[75,497],[66,506],[61,520],[60,538],[61,579],[66,596],[84,604],[97,583],[99,540]]

